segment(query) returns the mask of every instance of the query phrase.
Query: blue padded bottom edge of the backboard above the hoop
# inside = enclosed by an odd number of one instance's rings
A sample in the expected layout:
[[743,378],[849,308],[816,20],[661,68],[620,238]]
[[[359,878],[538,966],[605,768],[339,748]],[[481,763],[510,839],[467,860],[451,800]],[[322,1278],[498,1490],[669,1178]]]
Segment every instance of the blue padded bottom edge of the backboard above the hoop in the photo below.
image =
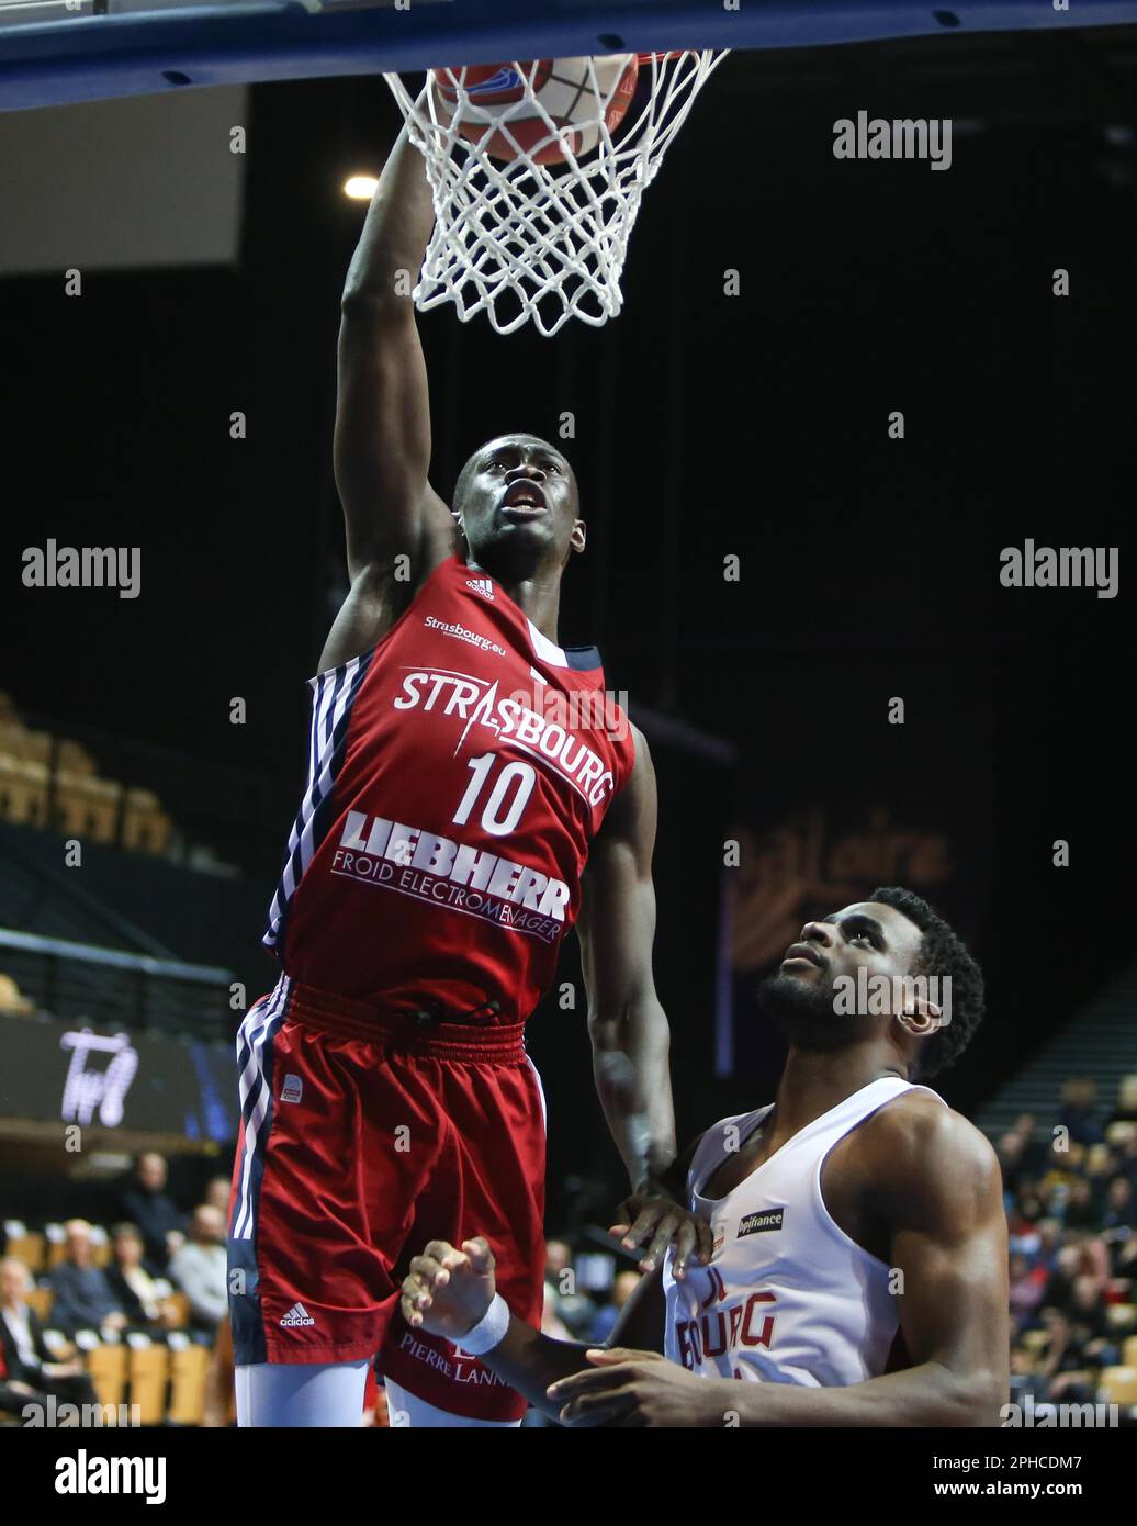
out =
[[1137,0],[0,0],[0,110],[499,58],[1137,21]]

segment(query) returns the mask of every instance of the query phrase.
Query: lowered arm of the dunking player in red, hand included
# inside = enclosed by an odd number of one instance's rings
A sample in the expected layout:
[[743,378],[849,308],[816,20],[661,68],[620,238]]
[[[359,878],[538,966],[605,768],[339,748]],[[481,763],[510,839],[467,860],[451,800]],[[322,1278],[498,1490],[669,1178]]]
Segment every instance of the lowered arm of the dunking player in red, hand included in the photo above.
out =
[[710,1256],[711,1244],[708,1227],[675,1201],[670,1030],[652,972],[658,801],[647,740],[633,736],[632,777],[589,850],[577,931],[597,1094],[632,1183],[626,1244],[644,1247],[647,1271],[672,1242],[681,1260]]

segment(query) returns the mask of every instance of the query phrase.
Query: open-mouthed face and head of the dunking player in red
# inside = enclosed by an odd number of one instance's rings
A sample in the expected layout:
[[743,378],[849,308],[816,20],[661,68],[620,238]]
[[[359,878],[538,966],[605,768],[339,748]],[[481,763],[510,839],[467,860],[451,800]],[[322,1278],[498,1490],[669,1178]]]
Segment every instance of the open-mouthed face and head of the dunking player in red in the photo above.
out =
[[556,557],[563,565],[585,545],[572,467],[533,435],[504,435],[482,446],[465,473],[459,517],[478,562]]

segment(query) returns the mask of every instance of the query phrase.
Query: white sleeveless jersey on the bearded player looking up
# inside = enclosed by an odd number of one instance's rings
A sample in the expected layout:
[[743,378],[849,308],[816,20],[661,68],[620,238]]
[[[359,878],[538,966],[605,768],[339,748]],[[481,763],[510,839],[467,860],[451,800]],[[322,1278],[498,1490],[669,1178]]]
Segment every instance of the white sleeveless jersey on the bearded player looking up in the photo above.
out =
[[[899,1328],[890,1270],[838,1228],[821,1196],[826,1157],[850,1129],[905,1091],[873,1080],[795,1134],[725,1198],[701,1189],[739,1152],[774,1103],[723,1119],[694,1152],[691,1210],[714,1231],[707,1267],[664,1262],[672,1361],[708,1378],[844,1387],[878,1378]],[[946,1103],[945,1103],[946,1106]]]

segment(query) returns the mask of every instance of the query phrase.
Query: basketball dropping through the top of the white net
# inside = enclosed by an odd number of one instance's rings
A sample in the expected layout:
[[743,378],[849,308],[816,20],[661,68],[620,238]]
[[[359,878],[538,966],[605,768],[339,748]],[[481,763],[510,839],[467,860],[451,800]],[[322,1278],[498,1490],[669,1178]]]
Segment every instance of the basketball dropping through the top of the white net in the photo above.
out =
[[440,119],[493,159],[556,165],[598,145],[601,105],[607,130],[620,125],[638,75],[635,53],[614,53],[433,69],[430,84]]

